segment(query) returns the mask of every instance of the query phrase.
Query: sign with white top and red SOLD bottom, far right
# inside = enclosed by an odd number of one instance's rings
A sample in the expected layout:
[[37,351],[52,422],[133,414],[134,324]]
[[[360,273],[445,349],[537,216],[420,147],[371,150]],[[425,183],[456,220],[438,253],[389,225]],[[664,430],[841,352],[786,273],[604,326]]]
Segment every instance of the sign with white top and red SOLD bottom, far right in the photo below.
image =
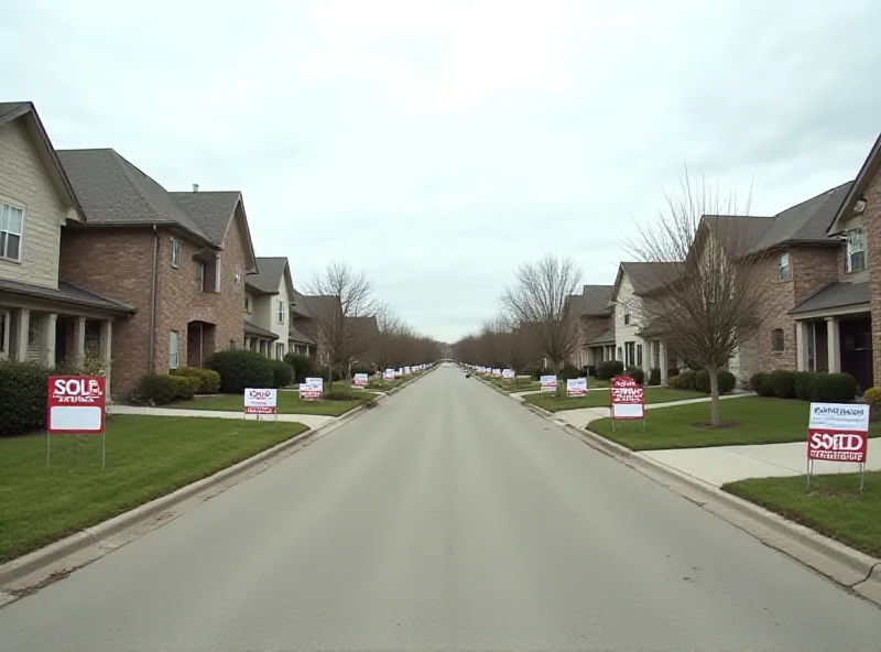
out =
[[807,458],[866,464],[869,452],[869,405],[811,403]]

